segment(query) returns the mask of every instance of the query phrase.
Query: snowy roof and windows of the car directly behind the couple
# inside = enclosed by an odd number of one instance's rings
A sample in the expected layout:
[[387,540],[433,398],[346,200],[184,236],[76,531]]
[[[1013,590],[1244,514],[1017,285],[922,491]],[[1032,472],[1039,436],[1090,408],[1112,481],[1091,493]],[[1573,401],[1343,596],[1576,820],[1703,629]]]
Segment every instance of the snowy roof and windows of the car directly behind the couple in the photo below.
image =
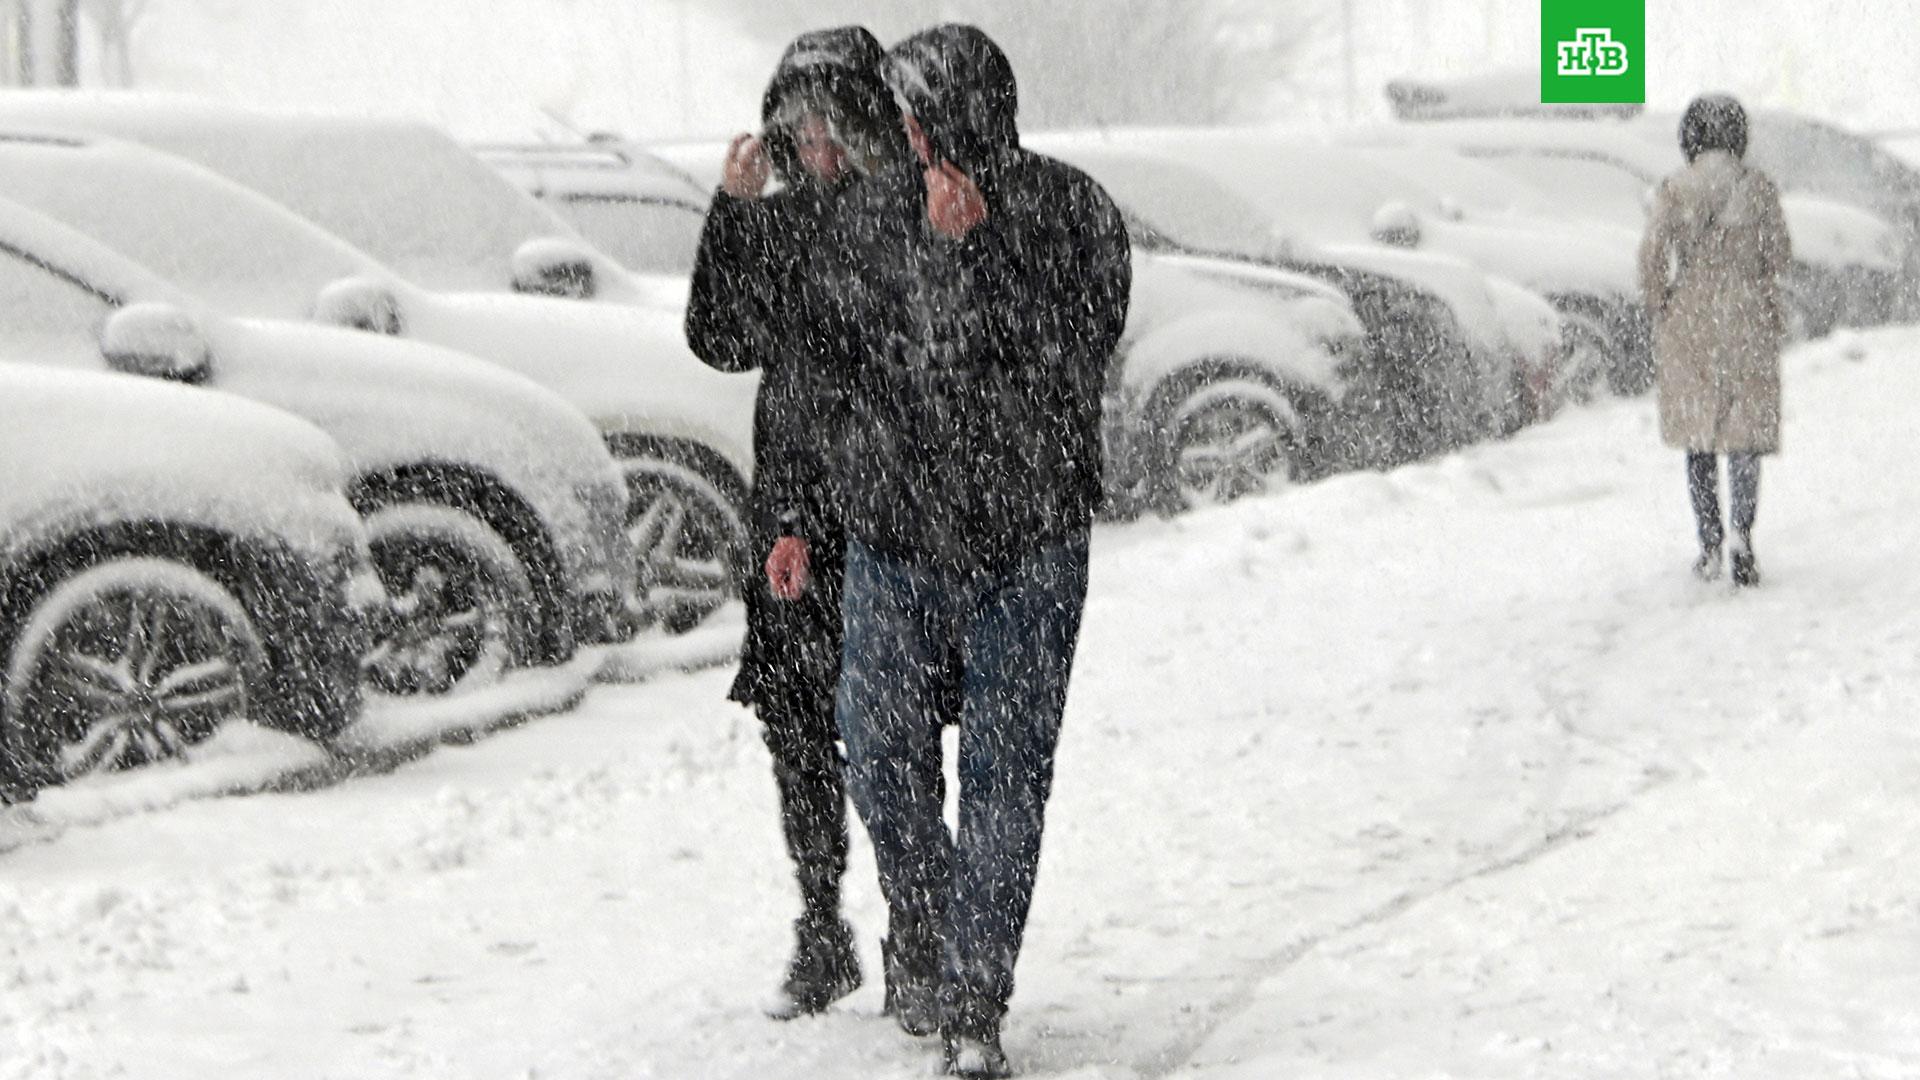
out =
[[628,269],[693,273],[710,192],[672,161],[620,138],[472,150]]

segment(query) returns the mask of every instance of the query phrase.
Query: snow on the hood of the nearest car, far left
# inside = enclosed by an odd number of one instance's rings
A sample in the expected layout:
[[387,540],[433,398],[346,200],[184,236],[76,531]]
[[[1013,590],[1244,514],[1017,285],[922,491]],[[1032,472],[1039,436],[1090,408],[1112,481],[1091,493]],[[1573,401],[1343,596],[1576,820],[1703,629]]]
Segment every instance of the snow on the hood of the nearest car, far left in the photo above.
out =
[[317,427],[132,375],[0,367],[0,553],[90,525],[171,521],[315,559],[365,548]]

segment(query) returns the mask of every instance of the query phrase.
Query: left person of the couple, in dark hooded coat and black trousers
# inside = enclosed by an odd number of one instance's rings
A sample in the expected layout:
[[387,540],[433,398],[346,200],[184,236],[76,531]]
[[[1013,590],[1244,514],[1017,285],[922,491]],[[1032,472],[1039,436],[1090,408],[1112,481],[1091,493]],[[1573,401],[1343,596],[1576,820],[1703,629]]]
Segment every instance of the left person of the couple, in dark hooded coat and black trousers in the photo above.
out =
[[[762,136],[741,135],[728,150],[687,306],[687,342],[701,359],[760,371],[749,505],[755,569],[743,582],[747,640],[730,698],[762,721],[801,884],[795,951],[770,1009],[780,1019],[818,1013],[860,984],[852,930],[841,919],[847,792],[833,723],[843,542],[814,405],[822,369],[843,359],[812,329],[822,317],[808,307],[803,275],[847,192],[908,156],[879,77],[883,58],[860,27],[808,33],[787,46],[762,98]],[[762,194],[770,175],[783,188]],[[795,563],[795,548],[808,557]]]

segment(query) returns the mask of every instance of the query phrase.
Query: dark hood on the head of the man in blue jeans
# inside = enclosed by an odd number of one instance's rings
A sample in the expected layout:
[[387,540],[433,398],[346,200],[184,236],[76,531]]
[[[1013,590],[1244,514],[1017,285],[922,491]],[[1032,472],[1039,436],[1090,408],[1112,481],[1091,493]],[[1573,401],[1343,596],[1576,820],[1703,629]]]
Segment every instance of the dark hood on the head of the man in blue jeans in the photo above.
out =
[[1020,148],[1014,65],[979,27],[947,23],[893,46],[887,86],[920,121],[933,154],[968,173]]

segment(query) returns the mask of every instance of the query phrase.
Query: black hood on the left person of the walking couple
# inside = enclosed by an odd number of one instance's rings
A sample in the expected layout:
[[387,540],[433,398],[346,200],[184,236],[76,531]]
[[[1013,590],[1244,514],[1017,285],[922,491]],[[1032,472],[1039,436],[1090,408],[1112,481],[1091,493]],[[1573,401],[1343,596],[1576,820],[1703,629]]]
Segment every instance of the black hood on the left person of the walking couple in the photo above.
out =
[[793,129],[818,111],[847,148],[854,171],[868,175],[912,156],[900,110],[881,81],[887,54],[866,27],[808,31],[780,54],[760,98],[762,140],[774,171],[787,184],[808,183]]

